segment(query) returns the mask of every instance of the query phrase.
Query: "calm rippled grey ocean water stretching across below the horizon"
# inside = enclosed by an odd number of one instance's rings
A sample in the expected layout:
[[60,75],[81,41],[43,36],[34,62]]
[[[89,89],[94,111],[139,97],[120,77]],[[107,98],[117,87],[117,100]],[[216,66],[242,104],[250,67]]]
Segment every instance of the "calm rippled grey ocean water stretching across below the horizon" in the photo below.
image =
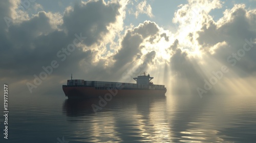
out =
[[94,112],[99,99],[16,96],[0,142],[256,142],[255,97],[114,97]]

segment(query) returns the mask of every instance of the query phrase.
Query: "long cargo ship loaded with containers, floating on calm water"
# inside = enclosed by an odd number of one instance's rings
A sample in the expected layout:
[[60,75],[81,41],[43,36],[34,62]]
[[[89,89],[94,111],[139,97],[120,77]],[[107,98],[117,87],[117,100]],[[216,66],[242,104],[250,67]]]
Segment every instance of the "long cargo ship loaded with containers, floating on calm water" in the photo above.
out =
[[153,84],[151,82],[153,77],[150,74],[146,75],[145,71],[133,79],[137,83],[74,80],[71,75],[71,80],[67,81],[67,85],[62,85],[62,89],[69,99],[98,98],[99,96],[165,96],[166,87]]

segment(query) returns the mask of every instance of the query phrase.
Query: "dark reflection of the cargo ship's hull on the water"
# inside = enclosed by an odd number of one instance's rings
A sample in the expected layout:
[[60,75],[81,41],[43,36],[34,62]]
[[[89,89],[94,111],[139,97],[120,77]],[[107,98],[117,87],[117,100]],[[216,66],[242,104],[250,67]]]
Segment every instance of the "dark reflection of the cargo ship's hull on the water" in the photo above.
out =
[[[88,114],[98,114],[107,112],[110,110],[118,110],[120,108],[127,108],[127,111],[132,111],[131,107],[138,107],[138,110],[146,110],[150,108],[150,105],[157,101],[165,101],[165,97],[126,97],[126,98],[114,98],[109,102],[106,102],[102,107],[99,98],[91,99],[66,99],[63,102],[63,113],[67,116],[86,116]],[[96,105],[98,108],[93,109],[92,105]],[[126,106],[126,107],[125,107]],[[139,108],[142,107],[142,108]]]

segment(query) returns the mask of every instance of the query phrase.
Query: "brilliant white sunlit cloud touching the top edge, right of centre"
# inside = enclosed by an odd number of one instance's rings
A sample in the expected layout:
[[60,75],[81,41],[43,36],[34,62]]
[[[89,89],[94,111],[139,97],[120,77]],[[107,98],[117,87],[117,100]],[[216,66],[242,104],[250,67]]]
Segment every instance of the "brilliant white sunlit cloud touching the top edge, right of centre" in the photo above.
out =
[[186,49],[197,51],[197,31],[201,30],[204,23],[212,20],[209,13],[219,8],[222,8],[222,2],[219,0],[189,0],[188,4],[180,5],[173,18],[173,22],[177,28],[175,38],[179,39],[180,45]]

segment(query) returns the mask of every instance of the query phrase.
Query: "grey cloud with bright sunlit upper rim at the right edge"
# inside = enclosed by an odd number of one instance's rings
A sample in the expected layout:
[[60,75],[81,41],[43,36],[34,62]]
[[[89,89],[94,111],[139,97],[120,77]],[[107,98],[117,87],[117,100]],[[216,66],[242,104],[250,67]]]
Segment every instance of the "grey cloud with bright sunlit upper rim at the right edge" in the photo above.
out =
[[246,37],[255,37],[255,11],[245,9],[245,5],[235,5],[231,10],[226,10],[219,21],[205,23],[198,32],[199,44],[212,46],[218,42],[242,42]]

